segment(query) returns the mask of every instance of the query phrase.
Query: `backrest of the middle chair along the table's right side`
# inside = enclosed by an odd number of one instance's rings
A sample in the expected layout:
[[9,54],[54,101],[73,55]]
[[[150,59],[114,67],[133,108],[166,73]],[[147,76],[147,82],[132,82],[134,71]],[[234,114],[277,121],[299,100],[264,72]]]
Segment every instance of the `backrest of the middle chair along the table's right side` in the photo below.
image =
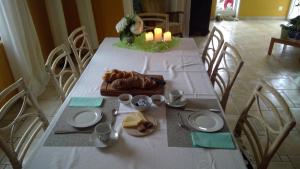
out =
[[231,88],[244,62],[235,47],[225,42],[215,63],[211,82],[220,98],[222,108],[226,109]]

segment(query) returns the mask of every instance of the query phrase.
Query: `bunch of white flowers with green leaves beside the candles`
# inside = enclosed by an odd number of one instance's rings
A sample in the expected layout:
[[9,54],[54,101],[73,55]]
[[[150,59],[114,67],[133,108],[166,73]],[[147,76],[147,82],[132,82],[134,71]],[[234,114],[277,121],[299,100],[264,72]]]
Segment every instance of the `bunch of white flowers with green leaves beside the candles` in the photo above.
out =
[[127,38],[127,42],[132,43],[134,36],[143,32],[144,23],[138,15],[127,15],[116,25],[116,30],[120,34],[121,41]]

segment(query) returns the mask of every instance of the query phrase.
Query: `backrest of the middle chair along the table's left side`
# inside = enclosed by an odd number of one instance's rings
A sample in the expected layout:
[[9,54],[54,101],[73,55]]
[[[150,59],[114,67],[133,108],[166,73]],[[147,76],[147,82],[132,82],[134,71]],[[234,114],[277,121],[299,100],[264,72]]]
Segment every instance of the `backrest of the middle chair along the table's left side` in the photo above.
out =
[[61,100],[64,100],[79,77],[69,49],[65,45],[60,45],[53,49],[48,56],[45,66],[54,82],[54,86],[59,92]]

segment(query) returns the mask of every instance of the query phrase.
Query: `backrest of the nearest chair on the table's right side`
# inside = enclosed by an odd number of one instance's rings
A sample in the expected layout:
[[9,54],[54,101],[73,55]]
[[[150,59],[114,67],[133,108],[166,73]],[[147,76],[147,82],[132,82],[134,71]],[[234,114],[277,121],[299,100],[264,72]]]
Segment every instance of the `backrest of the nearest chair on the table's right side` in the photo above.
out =
[[[253,106],[258,107],[258,113],[251,114],[249,110]],[[278,106],[280,110],[276,108]],[[266,109],[268,111],[263,111]],[[234,135],[241,138],[241,134],[245,134],[255,159],[254,165],[258,169],[265,169],[295,125],[295,119],[283,97],[265,81],[261,81],[240,115]],[[257,128],[264,130],[266,138],[259,138],[262,133],[259,134]]]

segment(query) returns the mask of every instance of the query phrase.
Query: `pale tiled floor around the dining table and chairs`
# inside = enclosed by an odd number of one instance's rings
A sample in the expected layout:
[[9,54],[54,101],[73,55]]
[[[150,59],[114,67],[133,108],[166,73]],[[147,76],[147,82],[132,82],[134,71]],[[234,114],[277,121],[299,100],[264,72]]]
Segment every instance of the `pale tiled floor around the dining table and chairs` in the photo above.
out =
[[[231,128],[247,102],[257,81],[268,81],[286,99],[296,121],[300,123],[300,49],[275,45],[272,56],[267,56],[272,36],[280,35],[279,25],[283,21],[223,21],[212,23],[218,26],[225,40],[239,50],[245,65],[240,72],[229,98],[226,116]],[[198,46],[203,47],[206,37],[195,38]],[[49,85],[47,91],[39,97],[41,107],[52,120],[61,104],[55,89]],[[252,110],[255,111],[255,110]],[[9,169],[7,158],[0,151],[0,169]],[[300,169],[300,125],[290,133],[276,153],[269,169]]]

